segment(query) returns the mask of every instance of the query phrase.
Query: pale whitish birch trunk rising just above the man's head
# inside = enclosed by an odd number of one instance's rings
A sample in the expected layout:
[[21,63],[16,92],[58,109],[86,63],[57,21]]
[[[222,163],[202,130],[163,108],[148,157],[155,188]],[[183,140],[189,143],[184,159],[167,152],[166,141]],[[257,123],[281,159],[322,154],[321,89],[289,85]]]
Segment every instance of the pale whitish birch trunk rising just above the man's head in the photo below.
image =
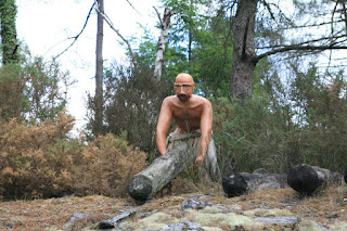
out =
[[172,15],[171,11],[168,8],[165,8],[164,17],[162,21],[162,33],[160,33],[160,38],[158,41],[158,50],[155,55],[155,64],[154,64],[154,78],[156,78],[158,81],[162,78],[165,44],[166,44],[166,39],[167,39],[168,33],[169,33],[171,15]]

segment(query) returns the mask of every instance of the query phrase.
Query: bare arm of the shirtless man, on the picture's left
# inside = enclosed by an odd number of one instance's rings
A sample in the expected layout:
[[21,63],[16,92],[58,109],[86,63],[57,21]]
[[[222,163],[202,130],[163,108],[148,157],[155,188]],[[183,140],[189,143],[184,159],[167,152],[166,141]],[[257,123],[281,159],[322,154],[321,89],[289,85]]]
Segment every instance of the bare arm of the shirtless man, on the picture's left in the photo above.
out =
[[170,100],[166,98],[160,107],[158,123],[156,125],[156,145],[160,155],[166,153],[166,132],[171,124],[172,108]]

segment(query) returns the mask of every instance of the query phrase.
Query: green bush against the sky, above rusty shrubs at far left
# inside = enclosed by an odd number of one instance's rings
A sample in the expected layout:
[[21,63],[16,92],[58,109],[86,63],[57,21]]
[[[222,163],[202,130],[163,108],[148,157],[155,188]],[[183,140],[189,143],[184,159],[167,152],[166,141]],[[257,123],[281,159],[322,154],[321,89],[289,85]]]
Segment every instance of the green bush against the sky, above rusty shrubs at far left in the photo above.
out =
[[55,118],[66,104],[68,73],[55,61],[30,59],[20,65],[10,63],[0,68],[0,116],[30,123]]

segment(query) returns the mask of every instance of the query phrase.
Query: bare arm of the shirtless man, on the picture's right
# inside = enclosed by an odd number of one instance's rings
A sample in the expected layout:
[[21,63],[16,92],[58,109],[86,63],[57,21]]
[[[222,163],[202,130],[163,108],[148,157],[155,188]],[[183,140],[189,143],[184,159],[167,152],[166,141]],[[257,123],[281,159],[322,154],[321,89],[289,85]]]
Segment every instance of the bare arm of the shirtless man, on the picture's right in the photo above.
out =
[[201,137],[201,155],[195,159],[195,164],[200,165],[206,155],[206,151],[210,141],[213,130],[213,106],[208,100],[204,102],[203,113],[201,117],[200,129],[202,131]]

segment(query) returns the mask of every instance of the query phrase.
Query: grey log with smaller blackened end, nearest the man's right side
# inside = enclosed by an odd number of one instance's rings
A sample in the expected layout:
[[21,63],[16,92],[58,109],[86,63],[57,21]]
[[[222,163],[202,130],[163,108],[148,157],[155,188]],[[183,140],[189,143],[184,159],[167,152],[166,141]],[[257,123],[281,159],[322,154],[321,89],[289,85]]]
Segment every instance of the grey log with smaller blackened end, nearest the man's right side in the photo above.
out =
[[261,189],[281,189],[287,184],[286,175],[239,172],[224,176],[222,187],[228,196],[237,196]]

